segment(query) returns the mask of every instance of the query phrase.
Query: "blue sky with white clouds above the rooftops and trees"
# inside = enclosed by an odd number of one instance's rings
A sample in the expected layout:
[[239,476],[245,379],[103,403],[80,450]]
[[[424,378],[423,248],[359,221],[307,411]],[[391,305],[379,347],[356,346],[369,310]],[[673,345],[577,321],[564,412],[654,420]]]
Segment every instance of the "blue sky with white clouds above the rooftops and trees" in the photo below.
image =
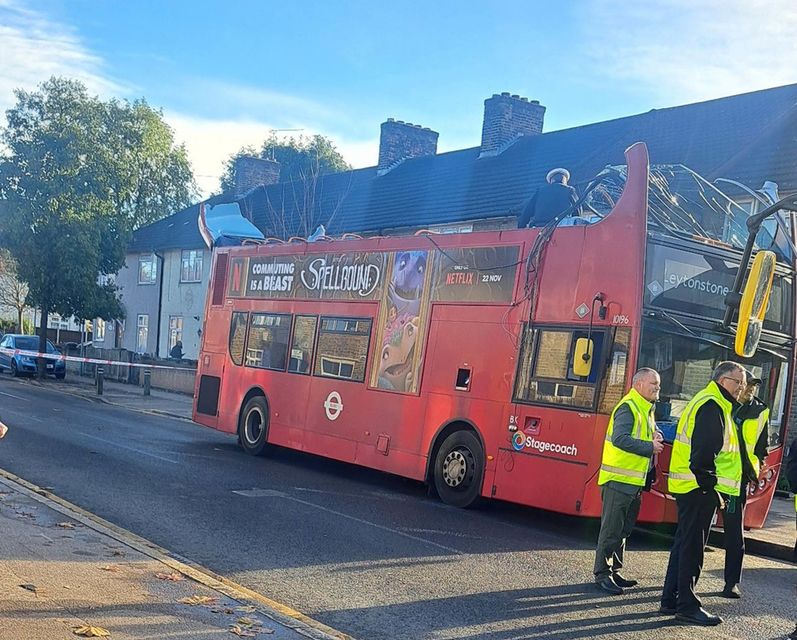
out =
[[362,167],[387,117],[478,145],[501,91],[540,100],[552,131],[797,82],[794,24],[794,0],[0,0],[0,109],[53,74],[143,96],[207,193],[270,129]]

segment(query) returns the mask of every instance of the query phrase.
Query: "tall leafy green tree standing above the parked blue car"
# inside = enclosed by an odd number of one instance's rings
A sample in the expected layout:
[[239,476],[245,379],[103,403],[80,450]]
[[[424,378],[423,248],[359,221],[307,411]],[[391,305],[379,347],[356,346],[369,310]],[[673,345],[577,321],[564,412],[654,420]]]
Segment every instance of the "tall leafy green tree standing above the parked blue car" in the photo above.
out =
[[143,101],[104,102],[63,78],[15,95],[2,131],[0,243],[41,310],[43,350],[50,313],[124,316],[100,276],[124,264],[133,228],[187,205],[194,187],[184,150]]

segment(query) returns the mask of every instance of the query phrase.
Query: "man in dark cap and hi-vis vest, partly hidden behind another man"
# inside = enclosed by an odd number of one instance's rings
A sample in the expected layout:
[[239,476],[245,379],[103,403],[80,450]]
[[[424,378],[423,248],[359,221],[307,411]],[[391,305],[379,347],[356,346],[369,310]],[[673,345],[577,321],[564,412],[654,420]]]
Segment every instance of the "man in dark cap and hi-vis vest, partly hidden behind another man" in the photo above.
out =
[[747,485],[758,482],[761,463],[767,456],[769,443],[769,409],[755,395],[761,378],[747,372],[747,387],[739,398],[741,406],[733,414],[739,452],[742,458],[742,486],[738,496],[731,496],[722,512],[725,537],[725,598],[741,598],[739,582],[744,561],[744,507],[747,503]]

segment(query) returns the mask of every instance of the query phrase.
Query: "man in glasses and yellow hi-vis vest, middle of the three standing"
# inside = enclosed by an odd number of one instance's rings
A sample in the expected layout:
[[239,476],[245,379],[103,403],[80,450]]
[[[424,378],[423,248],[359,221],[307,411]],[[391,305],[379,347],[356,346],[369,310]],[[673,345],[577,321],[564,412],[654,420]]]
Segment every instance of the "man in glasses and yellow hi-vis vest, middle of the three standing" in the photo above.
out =
[[678,507],[660,612],[680,622],[714,626],[722,618],[703,609],[695,593],[711,521],[719,507],[738,496],[742,459],[733,412],[747,384],[745,370],[721,362],[711,382],[681,413],[672,446],[668,489]]

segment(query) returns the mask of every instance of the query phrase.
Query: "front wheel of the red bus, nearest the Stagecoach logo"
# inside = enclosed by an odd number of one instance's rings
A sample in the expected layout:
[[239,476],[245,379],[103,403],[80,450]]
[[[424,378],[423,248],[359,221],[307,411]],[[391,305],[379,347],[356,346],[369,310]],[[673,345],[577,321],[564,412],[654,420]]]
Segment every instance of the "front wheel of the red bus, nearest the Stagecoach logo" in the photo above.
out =
[[437,452],[434,486],[440,499],[454,507],[470,507],[479,499],[484,478],[484,452],[470,431],[448,436]]

